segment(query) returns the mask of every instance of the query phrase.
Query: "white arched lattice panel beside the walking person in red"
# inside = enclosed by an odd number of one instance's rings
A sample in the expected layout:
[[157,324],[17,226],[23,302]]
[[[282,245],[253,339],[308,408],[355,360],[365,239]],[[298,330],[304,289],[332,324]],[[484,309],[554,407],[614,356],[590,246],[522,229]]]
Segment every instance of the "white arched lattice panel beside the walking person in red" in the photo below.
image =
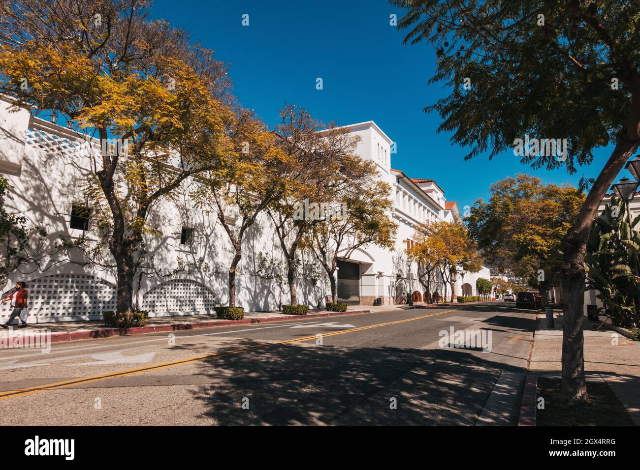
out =
[[[116,308],[116,288],[104,279],[88,274],[51,274],[27,282],[29,317],[55,321],[60,317],[101,315]],[[8,318],[12,308],[3,302],[0,318]]]

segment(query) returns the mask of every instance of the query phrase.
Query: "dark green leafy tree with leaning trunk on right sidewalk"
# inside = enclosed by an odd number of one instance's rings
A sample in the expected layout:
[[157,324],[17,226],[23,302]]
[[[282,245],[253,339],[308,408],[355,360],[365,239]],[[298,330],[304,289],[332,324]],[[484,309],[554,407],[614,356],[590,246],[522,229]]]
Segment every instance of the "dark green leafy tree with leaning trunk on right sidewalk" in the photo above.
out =
[[405,43],[436,48],[433,82],[451,94],[426,107],[442,117],[438,131],[470,148],[470,159],[511,152],[515,139],[566,138],[566,152],[527,149],[533,168],[565,168],[593,161],[612,146],[590,185],[580,215],[563,240],[562,391],[586,401],[582,311],[584,256],[591,223],[609,185],[640,143],[639,0],[390,0],[408,12]]

